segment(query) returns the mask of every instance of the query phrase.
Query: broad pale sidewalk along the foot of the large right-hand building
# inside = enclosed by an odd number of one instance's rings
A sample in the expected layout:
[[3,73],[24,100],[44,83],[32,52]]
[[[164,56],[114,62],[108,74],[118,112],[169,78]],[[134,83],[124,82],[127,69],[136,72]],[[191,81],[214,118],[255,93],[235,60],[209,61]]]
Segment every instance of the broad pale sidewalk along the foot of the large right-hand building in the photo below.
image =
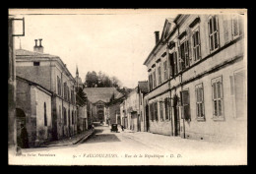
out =
[[150,145],[152,147],[160,147],[161,149],[171,150],[171,151],[183,151],[187,153],[197,152],[200,149],[201,152],[223,152],[223,151],[235,151],[240,152],[246,149],[246,145],[243,143],[234,142],[210,142],[201,141],[194,139],[183,139],[181,137],[164,136],[160,134],[153,134],[150,132],[133,132],[131,130],[125,130],[124,133],[134,133],[129,134],[134,140],[144,143],[145,145]]

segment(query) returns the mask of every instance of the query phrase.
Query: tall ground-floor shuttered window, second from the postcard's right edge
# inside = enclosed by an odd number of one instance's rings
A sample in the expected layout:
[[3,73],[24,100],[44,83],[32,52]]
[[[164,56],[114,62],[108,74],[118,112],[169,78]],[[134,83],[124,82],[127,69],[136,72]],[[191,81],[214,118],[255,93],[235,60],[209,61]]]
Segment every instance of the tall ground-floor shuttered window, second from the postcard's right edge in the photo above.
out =
[[216,78],[212,81],[213,88],[213,110],[214,117],[224,116],[224,103],[223,103],[223,81],[222,77]]

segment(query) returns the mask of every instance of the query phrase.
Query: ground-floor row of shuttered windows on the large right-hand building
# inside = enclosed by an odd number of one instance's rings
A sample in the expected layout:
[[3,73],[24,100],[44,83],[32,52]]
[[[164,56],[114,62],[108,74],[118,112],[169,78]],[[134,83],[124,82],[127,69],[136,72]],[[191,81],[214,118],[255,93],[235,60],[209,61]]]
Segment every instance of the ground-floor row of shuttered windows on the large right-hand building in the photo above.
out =
[[[213,110],[214,118],[223,118],[224,117],[224,95],[223,95],[223,80],[222,77],[212,80],[212,91],[213,91]],[[185,120],[191,120],[190,114],[190,96],[189,90],[183,90],[180,92],[181,106],[182,106],[182,117]],[[196,96],[196,116],[199,120],[205,119],[204,111],[204,87],[203,84],[199,84],[195,87],[195,96]],[[163,112],[165,112],[165,120],[169,119],[170,107],[169,107],[169,98],[166,97],[164,101],[156,101],[150,104],[150,113],[152,121],[159,120],[160,108],[160,120],[163,120]],[[159,103],[159,104],[158,104]],[[159,105],[159,107],[158,107]],[[164,105],[164,110],[163,110]]]

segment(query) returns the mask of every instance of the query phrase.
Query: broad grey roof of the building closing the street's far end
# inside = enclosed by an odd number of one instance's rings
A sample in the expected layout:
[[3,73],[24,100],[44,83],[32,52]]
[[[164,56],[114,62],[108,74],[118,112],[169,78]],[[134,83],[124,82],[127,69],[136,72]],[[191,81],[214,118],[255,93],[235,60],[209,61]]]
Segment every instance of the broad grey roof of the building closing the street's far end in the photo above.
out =
[[93,103],[96,103],[98,100],[109,102],[113,94],[115,98],[123,95],[115,87],[86,87],[84,92],[87,93],[89,100]]

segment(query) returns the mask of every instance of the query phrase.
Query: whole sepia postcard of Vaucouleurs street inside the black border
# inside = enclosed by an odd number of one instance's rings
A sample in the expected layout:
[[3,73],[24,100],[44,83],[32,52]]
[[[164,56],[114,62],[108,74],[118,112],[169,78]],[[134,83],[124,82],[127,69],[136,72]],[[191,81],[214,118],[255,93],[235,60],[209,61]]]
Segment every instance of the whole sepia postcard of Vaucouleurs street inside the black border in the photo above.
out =
[[8,9],[8,164],[247,165],[247,9]]

